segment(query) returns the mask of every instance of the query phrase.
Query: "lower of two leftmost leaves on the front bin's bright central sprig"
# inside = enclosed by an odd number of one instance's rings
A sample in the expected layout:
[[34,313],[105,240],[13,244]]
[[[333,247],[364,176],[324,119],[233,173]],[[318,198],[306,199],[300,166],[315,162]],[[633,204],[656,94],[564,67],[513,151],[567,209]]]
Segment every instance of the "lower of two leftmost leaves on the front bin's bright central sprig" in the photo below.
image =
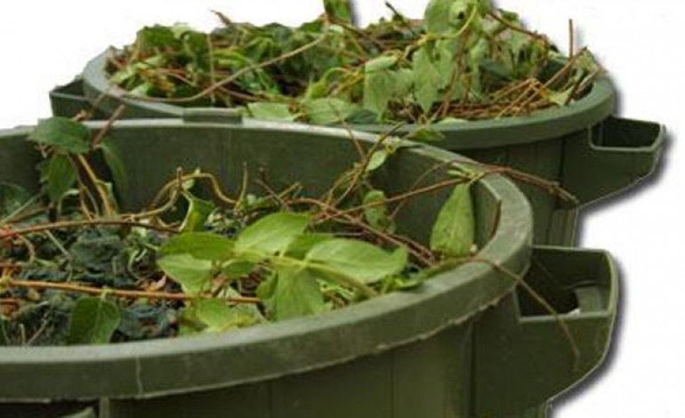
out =
[[157,265],[188,293],[204,291],[214,277],[212,261],[200,260],[188,253],[168,255],[158,260]]

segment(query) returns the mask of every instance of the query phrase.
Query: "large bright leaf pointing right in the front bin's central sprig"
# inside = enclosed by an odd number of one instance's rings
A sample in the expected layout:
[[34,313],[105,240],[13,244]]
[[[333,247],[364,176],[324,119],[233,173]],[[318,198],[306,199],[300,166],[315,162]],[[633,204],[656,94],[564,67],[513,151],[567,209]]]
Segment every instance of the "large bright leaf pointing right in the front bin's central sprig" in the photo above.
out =
[[[407,250],[388,253],[375,245],[351,239],[334,239],[318,244],[307,254],[312,268],[341,274],[364,284],[401,272],[407,266]],[[334,277],[332,277],[334,278]]]

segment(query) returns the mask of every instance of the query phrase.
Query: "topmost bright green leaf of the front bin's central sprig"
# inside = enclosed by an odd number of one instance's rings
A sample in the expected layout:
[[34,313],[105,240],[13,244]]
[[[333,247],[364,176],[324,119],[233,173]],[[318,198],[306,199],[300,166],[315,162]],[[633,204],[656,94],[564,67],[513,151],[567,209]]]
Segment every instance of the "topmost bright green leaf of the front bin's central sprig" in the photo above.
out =
[[300,213],[273,213],[244,229],[236,240],[238,253],[282,253],[310,223],[310,217]]

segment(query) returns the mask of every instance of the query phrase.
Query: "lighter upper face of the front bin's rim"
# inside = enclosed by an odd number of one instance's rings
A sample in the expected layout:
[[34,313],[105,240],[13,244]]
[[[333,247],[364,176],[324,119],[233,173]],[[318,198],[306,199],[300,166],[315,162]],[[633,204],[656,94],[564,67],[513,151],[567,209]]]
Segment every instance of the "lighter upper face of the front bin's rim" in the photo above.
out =
[[[93,129],[98,129],[104,126],[104,122],[88,123]],[[205,126],[207,128],[225,128],[235,129],[236,125],[222,125],[222,124],[187,124],[180,120],[163,119],[163,120],[130,120],[117,122],[114,129],[141,129],[144,127],[158,127],[164,126],[167,128],[184,127],[184,126]],[[335,128],[301,125],[301,124],[279,124],[273,122],[262,121],[246,121],[242,128],[257,129],[257,130],[288,130],[302,133],[338,133],[338,135],[345,135],[347,141],[347,133]],[[0,141],[4,138],[25,135],[30,132],[30,127],[15,128],[12,130],[0,131]],[[377,138],[376,135],[370,133],[355,133],[355,135],[362,141],[369,141],[372,138]],[[417,144],[407,152],[419,153],[428,157],[433,157],[439,160],[454,160],[455,155],[448,153],[442,149],[435,149],[430,146]],[[483,180],[484,184],[496,196],[503,197],[502,216],[500,224],[496,230],[495,236],[485,245],[479,253],[483,258],[494,261],[499,265],[514,264],[517,267],[527,264],[528,261],[521,261],[528,253],[530,243],[532,241],[532,213],[528,204],[528,200],[523,197],[520,190],[517,189],[511,181],[506,180],[501,175],[488,176],[488,179]],[[309,316],[304,318],[296,318],[282,323],[268,324],[265,326],[256,326],[253,328],[246,328],[234,333],[214,334],[207,336],[199,336],[193,338],[179,338],[174,340],[164,339],[147,342],[128,342],[123,344],[109,344],[103,346],[74,346],[74,347],[40,347],[40,348],[19,348],[9,347],[0,348],[0,368],[3,366],[12,367],[37,367],[39,370],[49,370],[54,366],[69,366],[69,364],[87,364],[88,366],[97,367],[100,364],[110,364],[125,362],[134,362],[136,366],[140,365],[141,361],[155,358],[170,358],[184,355],[203,353],[219,353],[227,350],[240,350],[246,346],[254,344],[266,344],[278,342],[286,337],[301,338],[306,334],[314,335],[321,333],[326,329],[337,329],[349,325],[351,320],[364,320],[371,323],[380,323],[383,318],[394,315],[403,309],[415,309],[416,306],[421,306],[430,303],[433,298],[440,295],[444,296],[446,292],[463,293],[460,286],[448,282],[454,282],[455,279],[461,278],[464,283],[473,283],[476,280],[483,280],[485,283],[480,283],[479,287],[487,287],[488,280],[493,282],[497,280],[492,273],[495,269],[482,264],[473,263],[450,270],[437,277],[431,278],[429,282],[423,285],[419,292],[412,293],[391,293],[381,298],[366,301],[353,305],[346,309],[339,309],[320,316]],[[504,293],[512,291],[515,284],[507,287]],[[495,301],[493,299],[493,301]],[[485,306],[486,303],[483,303]],[[473,309],[470,315],[475,315],[479,309]],[[331,359],[327,362],[320,362],[319,365],[310,365],[310,368],[318,368],[318,366],[326,366],[336,364],[343,361],[348,361],[351,358],[366,356],[373,352],[381,352],[383,350],[390,350],[391,348],[413,341],[420,338],[422,335],[433,334],[439,329],[449,326],[461,320],[467,320],[470,316],[463,318],[452,318],[440,326],[423,327],[417,329],[414,335],[407,339],[402,339],[396,342],[381,341],[383,338],[378,338],[377,342],[367,342],[367,346],[375,347],[375,350],[367,350],[367,352],[350,353],[349,355],[339,356],[339,358]],[[373,324],[372,324],[373,325]],[[377,326],[377,325],[376,325]],[[386,338],[387,339],[387,338]],[[170,342],[174,342],[170,344]],[[170,347],[171,346],[171,347]],[[306,370],[304,367],[301,370]],[[297,371],[288,371],[286,374],[296,373]],[[131,384],[133,386],[133,383]],[[182,385],[181,385],[182,386]],[[195,387],[197,385],[193,385]],[[211,386],[207,383],[205,386]],[[168,390],[168,389],[167,389]],[[176,390],[186,390],[184,387],[178,387]],[[189,390],[189,389],[188,389]],[[4,398],[4,391],[0,387],[0,398]],[[158,393],[164,391],[162,389],[149,388],[141,391],[139,395]],[[34,394],[27,394],[27,398],[42,398],[32,396]],[[69,391],[67,391],[69,395]],[[132,393],[133,395],[133,393]],[[101,396],[108,396],[108,393],[102,393]]]

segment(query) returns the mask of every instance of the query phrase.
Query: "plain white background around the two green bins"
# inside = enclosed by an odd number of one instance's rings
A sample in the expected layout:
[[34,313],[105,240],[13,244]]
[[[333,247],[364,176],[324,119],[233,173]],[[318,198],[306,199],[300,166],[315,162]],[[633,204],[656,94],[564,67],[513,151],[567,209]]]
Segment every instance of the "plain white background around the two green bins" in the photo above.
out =
[[[427,0],[395,0],[420,17]],[[588,45],[612,73],[624,117],[668,126],[663,169],[630,196],[586,212],[582,243],[615,254],[623,272],[623,304],[608,363],[564,398],[554,418],[676,418],[685,416],[685,8],[674,0],[499,0],[532,28],[568,44],[576,21]],[[0,128],[33,124],[50,113],[47,92],[68,82],[110,44],[133,40],[143,25],[217,23],[210,9],[234,20],[298,23],[322,12],[320,0],[12,0],[0,5]],[[383,0],[358,1],[363,21],[387,14]],[[322,417],[325,418],[325,417]],[[423,417],[417,417],[423,418]],[[429,417],[426,417],[429,418]]]

